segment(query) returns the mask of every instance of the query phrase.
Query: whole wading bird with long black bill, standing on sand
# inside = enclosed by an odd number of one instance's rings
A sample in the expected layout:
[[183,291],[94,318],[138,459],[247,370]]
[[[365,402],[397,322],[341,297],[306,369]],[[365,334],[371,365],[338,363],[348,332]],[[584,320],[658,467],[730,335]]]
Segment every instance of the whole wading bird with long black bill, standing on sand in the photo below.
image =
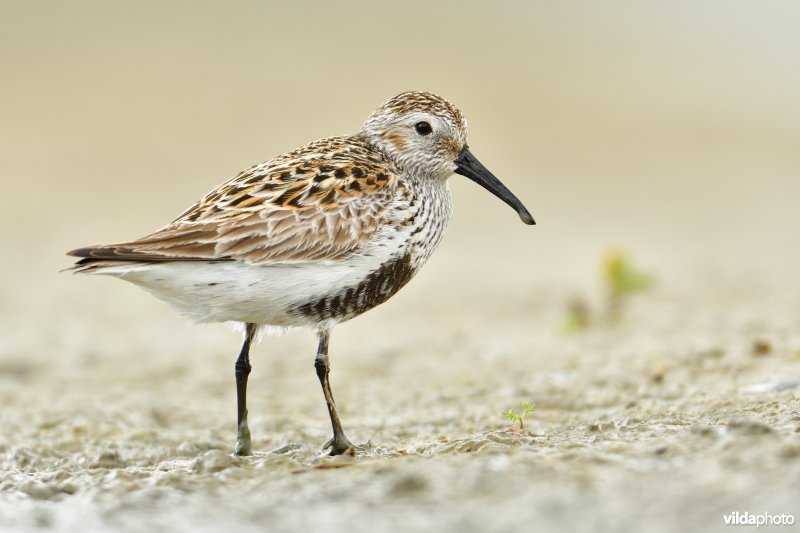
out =
[[331,330],[386,302],[425,264],[452,216],[453,174],[535,224],[470,151],[461,111],[435,94],[407,91],[356,133],[252,166],[145,237],[68,252],[78,258],[68,270],[133,283],[198,323],[241,327],[235,455],[253,453],[251,344],[265,331],[313,330],[314,367],[333,430],[322,451],[355,454],[331,391]]

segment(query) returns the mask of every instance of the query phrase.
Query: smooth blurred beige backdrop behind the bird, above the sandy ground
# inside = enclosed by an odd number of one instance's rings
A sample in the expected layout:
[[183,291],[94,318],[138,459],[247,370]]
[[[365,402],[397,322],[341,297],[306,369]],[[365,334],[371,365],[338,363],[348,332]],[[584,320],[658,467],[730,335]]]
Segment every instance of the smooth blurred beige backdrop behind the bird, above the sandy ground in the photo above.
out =
[[791,1],[3,2],[2,244],[53,283],[63,251],[138,237],[421,89],[539,224],[456,176],[443,249],[466,261],[438,268],[581,282],[617,245],[676,275],[785,275],[798,20]]

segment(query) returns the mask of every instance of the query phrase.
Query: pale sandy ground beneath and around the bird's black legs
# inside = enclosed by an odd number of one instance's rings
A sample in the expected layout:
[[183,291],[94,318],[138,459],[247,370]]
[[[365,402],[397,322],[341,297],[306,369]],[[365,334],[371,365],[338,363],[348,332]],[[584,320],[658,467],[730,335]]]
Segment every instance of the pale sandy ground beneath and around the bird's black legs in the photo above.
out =
[[[310,333],[255,350],[258,452],[236,458],[238,336],[116,280],[67,278],[74,313],[34,339],[2,332],[4,530],[657,532],[722,530],[732,511],[797,518],[795,295],[662,281],[618,324],[567,335],[570,294],[443,287],[450,259],[335,331],[334,391],[366,448],[354,458],[320,452]],[[82,302],[89,284],[102,297]],[[29,319],[45,320],[41,303]],[[515,431],[501,411],[523,401],[537,410]]]

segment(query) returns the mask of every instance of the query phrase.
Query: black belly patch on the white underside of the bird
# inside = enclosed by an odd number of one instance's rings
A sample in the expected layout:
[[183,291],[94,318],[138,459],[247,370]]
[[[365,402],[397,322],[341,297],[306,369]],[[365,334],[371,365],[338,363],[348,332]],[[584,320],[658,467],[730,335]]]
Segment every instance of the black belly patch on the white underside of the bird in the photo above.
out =
[[294,312],[316,320],[352,318],[391,298],[415,273],[407,254],[382,264],[358,285],[300,305]]

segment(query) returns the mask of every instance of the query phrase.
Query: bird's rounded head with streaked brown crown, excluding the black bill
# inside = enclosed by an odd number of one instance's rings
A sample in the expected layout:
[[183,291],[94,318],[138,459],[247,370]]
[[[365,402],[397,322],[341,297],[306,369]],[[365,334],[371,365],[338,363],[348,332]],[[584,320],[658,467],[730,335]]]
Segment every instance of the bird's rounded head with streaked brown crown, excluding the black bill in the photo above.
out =
[[435,94],[408,91],[375,110],[359,130],[403,172],[444,179],[467,144],[467,121],[453,104]]

